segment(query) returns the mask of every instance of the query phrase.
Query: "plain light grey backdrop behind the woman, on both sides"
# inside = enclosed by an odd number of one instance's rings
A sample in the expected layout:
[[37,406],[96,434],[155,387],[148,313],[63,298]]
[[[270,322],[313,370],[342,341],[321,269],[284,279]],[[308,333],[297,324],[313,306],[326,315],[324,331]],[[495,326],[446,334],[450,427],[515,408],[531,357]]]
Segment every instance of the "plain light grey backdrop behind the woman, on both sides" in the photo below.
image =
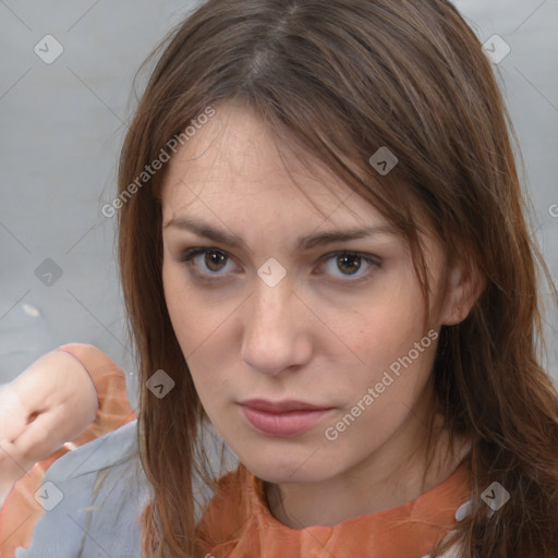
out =
[[[134,385],[113,257],[116,221],[100,207],[116,191],[134,74],[194,4],[0,0],[0,383],[58,344],[89,342]],[[497,34],[511,48],[495,69],[525,160],[534,234],[556,281],[558,1],[456,4],[483,43]],[[34,51],[48,34],[64,49],[51,64]],[[36,276],[47,258],[62,271],[51,286]],[[547,366],[555,378],[557,324],[554,308]]]

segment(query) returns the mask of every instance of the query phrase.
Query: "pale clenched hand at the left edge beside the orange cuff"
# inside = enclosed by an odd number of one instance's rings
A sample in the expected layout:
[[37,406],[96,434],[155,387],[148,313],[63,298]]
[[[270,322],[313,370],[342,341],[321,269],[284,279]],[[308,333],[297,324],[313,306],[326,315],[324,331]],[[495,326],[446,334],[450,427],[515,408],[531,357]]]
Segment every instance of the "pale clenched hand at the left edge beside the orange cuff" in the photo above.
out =
[[71,354],[52,351],[0,389],[0,506],[35,463],[95,420],[97,392]]

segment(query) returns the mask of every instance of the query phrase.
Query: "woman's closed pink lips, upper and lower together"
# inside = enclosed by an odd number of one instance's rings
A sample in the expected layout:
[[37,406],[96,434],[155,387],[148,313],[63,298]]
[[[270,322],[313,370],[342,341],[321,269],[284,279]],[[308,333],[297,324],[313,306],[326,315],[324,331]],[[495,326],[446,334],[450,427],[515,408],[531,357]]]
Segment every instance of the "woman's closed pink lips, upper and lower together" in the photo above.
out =
[[241,409],[248,423],[268,436],[289,437],[302,434],[317,424],[331,408],[320,408],[304,401],[242,401]]

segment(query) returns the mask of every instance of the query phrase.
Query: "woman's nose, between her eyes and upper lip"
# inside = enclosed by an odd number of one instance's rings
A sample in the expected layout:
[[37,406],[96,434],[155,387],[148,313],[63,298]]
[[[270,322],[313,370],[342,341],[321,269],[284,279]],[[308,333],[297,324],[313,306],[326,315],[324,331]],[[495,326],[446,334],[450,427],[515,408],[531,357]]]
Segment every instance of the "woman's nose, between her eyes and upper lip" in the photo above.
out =
[[307,308],[292,292],[287,278],[275,287],[257,279],[256,291],[244,307],[244,362],[269,376],[292,372],[310,362],[313,347],[306,314]]

